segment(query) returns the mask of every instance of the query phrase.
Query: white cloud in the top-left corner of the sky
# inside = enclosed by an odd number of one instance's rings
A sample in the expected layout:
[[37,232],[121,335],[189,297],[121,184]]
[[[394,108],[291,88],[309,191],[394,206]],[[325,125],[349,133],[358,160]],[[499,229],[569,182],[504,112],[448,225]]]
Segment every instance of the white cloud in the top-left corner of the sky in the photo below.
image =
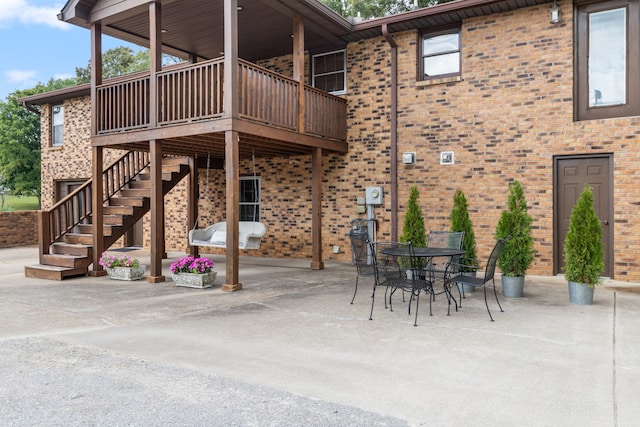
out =
[[41,6],[35,0],[0,0],[0,28],[19,22],[24,25],[47,25],[68,30],[71,26],[58,20],[63,4]]

